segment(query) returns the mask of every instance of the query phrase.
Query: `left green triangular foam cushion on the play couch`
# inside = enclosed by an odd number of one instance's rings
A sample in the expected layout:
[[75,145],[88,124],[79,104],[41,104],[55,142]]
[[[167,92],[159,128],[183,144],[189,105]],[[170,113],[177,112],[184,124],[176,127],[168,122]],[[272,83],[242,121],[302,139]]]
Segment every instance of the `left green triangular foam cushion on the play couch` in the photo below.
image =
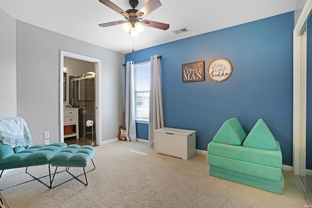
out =
[[213,141],[229,145],[241,145],[245,138],[246,133],[238,119],[230,118],[226,120],[218,132],[216,132]]

